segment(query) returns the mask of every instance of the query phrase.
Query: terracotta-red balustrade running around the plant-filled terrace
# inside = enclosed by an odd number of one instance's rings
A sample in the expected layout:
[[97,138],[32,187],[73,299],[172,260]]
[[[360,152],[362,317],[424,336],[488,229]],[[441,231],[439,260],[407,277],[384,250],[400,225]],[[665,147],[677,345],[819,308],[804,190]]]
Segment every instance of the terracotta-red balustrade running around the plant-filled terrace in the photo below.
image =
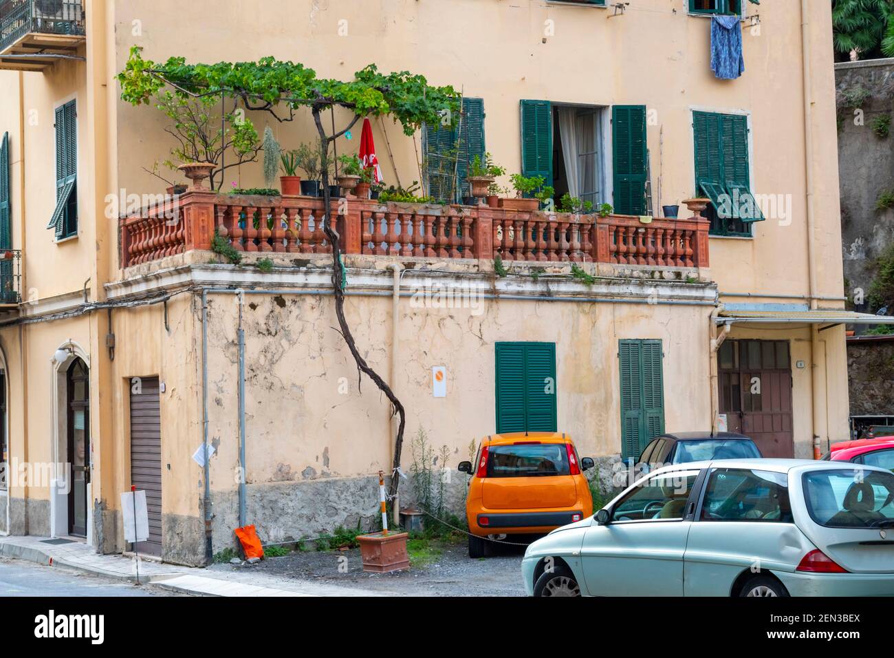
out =
[[[339,214],[343,211],[343,214]],[[334,199],[345,253],[413,258],[708,267],[704,218],[546,214],[486,206]],[[240,252],[329,253],[315,197],[192,191],[120,221],[122,267],[210,249],[215,232]]]

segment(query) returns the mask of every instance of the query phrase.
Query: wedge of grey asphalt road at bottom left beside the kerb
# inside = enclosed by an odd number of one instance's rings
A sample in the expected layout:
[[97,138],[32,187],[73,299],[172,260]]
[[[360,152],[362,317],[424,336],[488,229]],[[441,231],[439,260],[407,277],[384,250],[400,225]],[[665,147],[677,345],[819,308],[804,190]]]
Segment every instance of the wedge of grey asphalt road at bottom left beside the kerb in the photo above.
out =
[[164,591],[119,583],[63,568],[0,559],[2,596],[164,596]]

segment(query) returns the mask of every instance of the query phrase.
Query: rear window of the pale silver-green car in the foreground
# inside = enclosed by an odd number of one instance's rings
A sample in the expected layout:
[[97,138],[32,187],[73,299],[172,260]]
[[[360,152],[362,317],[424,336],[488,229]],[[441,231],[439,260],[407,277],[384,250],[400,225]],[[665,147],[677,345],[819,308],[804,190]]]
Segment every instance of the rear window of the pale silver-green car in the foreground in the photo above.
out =
[[860,468],[804,474],[807,511],[830,528],[894,527],[894,474]]

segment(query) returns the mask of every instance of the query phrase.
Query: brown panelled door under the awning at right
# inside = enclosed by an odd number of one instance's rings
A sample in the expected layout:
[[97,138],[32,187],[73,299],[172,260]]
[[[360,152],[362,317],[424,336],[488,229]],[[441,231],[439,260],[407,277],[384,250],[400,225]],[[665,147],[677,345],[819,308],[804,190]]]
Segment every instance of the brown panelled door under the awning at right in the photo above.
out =
[[728,340],[718,355],[720,413],[763,457],[794,457],[789,342]]

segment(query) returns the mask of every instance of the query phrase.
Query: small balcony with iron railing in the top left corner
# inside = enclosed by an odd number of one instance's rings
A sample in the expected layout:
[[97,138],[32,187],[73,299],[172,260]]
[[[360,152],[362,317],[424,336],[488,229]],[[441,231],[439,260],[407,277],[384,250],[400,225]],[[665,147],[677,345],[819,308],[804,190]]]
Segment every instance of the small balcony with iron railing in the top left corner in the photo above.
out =
[[44,71],[60,59],[81,59],[81,0],[0,0],[0,69]]

